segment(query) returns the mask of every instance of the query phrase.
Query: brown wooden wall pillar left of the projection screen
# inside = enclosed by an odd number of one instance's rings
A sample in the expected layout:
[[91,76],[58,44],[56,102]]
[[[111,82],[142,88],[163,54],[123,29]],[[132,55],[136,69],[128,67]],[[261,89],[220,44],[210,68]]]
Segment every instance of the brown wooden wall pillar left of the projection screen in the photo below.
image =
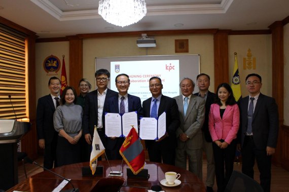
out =
[[67,36],[69,40],[69,86],[73,86],[78,94],[79,80],[83,78],[83,40],[78,36]]

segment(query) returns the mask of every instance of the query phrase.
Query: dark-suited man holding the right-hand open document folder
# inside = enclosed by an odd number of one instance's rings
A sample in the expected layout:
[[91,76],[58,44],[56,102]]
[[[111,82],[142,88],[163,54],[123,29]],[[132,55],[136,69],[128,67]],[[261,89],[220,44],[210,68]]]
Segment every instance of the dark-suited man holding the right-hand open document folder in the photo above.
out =
[[[158,162],[174,165],[176,134],[175,131],[179,126],[178,107],[175,99],[162,95],[162,81],[157,76],[150,79],[150,91],[152,97],[142,102],[143,116],[152,117],[152,108],[157,104],[157,118],[166,112],[166,133],[158,140],[146,140],[149,158],[152,162]],[[141,128],[140,128],[141,129]]]

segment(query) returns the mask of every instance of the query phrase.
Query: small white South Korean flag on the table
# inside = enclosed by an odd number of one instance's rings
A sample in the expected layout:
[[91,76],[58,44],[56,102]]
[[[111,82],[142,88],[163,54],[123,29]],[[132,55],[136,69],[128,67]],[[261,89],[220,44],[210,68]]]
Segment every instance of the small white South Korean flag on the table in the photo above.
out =
[[90,169],[92,172],[92,175],[94,175],[96,166],[97,166],[97,158],[100,157],[104,152],[104,146],[99,138],[99,135],[97,133],[96,127],[94,127],[94,133],[93,133],[93,140],[92,140],[92,150],[90,153]]

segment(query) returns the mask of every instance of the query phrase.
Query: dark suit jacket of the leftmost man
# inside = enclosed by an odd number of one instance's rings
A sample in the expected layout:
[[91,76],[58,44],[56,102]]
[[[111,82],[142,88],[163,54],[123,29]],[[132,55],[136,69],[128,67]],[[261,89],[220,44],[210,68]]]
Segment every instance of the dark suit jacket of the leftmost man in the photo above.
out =
[[38,139],[45,139],[45,144],[50,144],[57,132],[53,125],[53,114],[55,106],[51,95],[38,99],[36,109],[36,128]]

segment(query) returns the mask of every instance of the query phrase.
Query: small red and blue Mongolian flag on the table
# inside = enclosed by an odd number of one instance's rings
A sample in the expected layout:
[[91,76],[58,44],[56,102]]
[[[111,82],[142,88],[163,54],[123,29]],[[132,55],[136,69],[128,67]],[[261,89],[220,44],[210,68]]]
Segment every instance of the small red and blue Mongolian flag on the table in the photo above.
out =
[[132,127],[120,148],[120,155],[133,174],[139,173],[144,167],[144,151],[135,128]]

